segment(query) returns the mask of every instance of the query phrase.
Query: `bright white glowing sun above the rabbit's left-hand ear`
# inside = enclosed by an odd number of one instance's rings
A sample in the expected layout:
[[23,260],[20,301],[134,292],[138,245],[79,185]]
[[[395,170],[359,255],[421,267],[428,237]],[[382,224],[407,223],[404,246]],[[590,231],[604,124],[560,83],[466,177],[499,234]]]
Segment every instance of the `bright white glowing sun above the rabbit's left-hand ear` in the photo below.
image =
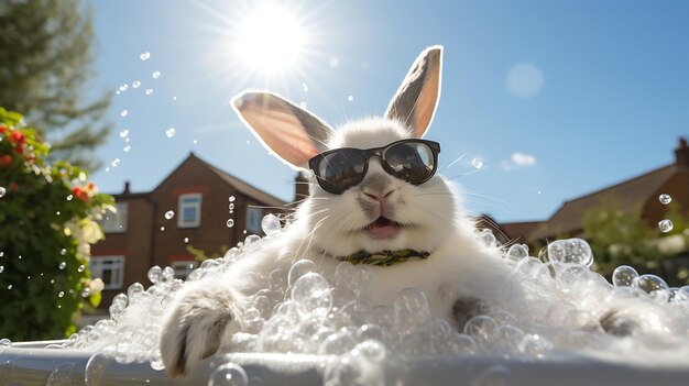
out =
[[278,4],[264,4],[239,23],[236,55],[248,69],[275,75],[294,68],[306,44],[297,14]]

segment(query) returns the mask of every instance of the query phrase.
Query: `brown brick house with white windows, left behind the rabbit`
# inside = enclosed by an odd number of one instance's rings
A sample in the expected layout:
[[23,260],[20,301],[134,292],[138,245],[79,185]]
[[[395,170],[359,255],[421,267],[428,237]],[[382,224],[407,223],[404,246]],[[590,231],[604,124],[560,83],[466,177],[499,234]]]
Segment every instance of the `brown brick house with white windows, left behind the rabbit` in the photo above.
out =
[[177,277],[186,277],[198,264],[188,245],[219,254],[247,234],[262,234],[264,214],[288,209],[194,153],[152,191],[131,192],[125,183],[113,197],[118,212],[106,216],[106,240],[91,249],[91,274],[106,284],[101,307],[133,283],[147,285],[154,265],[172,266]]

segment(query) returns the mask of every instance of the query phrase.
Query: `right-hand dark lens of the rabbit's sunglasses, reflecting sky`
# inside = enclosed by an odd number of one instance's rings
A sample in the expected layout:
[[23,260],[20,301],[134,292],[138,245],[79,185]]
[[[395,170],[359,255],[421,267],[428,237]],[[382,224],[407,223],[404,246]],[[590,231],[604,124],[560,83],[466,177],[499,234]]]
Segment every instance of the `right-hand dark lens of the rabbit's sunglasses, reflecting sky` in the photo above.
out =
[[435,169],[433,150],[422,142],[402,142],[387,148],[383,155],[395,177],[412,184],[427,180]]

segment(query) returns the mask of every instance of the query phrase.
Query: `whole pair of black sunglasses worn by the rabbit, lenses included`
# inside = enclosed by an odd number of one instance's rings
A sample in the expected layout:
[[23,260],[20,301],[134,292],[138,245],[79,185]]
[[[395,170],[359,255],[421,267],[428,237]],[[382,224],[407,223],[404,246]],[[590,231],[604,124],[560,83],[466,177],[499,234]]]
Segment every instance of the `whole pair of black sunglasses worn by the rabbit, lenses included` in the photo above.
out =
[[318,154],[308,161],[318,185],[330,194],[341,195],[357,186],[369,169],[369,159],[378,156],[383,169],[412,185],[429,180],[438,168],[440,144],[426,140],[402,140],[374,148],[342,147]]

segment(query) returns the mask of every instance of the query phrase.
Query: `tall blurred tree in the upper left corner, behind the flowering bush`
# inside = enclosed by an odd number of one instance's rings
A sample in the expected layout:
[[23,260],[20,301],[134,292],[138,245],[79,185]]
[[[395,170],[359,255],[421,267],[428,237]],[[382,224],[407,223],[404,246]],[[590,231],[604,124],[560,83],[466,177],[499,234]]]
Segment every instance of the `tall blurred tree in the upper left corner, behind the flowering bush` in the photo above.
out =
[[42,128],[51,159],[89,170],[100,166],[92,152],[110,131],[103,121],[110,93],[85,102],[97,93],[86,89],[94,75],[91,20],[79,0],[0,1],[0,106]]

